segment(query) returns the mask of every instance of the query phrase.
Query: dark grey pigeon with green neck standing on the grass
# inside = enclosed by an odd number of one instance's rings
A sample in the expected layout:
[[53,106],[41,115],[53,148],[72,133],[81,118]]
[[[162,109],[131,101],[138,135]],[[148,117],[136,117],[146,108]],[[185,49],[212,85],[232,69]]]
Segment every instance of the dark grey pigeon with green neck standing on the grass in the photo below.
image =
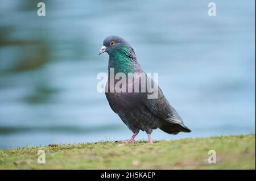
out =
[[[110,70],[114,70],[114,75],[117,75],[117,73],[124,75],[137,73],[139,75],[144,73],[144,71],[137,61],[134,49],[122,37],[106,37],[98,54],[100,55],[104,52],[109,54],[109,74],[105,95],[112,110],[117,113],[123,123],[133,132],[133,136],[129,141],[134,142],[134,138],[140,130],[147,133],[149,144],[152,144],[151,133],[157,128],[169,134],[191,132],[189,128],[185,127],[183,120],[169,104],[158,85],[156,85],[158,93],[156,98],[148,98],[149,91],[134,91],[135,79],[138,81],[141,78],[138,76],[134,77],[130,84],[126,81],[127,84],[124,84],[126,87],[122,89],[125,91],[117,91],[115,89],[111,91]],[[146,79],[151,83],[155,83],[150,77],[146,77]],[[114,85],[117,82],[118,80],[114,78]],[[139,86],[141,86],[142,81],[138,82]],[[129,86],[133,87],[132,92],[127,91],[130,89]]]

